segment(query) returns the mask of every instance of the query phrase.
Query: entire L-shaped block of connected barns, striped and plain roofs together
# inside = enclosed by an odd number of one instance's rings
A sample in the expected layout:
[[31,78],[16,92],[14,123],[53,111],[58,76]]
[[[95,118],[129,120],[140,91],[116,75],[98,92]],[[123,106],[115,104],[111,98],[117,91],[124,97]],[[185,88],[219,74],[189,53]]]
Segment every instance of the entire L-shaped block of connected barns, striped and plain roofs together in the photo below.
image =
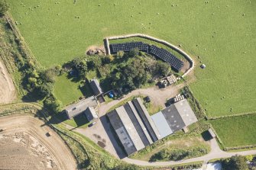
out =
[[197,121],[186,100],[150,116],[141,98],[128,101],[107,114],[127,155]]

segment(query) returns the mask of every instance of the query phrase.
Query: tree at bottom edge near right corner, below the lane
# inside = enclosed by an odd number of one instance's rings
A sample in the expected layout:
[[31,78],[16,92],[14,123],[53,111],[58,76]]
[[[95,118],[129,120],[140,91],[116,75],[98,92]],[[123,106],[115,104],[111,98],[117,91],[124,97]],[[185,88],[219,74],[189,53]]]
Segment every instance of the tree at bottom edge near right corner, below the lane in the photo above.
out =
[[224,170],[248,170],[247,160],[243,156],[232,156],[222,161]]

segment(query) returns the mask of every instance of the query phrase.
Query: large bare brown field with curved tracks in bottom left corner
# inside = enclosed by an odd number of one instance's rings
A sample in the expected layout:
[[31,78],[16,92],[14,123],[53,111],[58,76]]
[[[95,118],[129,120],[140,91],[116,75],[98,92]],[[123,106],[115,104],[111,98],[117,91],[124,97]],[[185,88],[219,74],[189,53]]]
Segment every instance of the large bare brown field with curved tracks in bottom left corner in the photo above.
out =
[[0,169],[76,169],[70,149],[43,121],[28,115],[0,117],[0,129]]

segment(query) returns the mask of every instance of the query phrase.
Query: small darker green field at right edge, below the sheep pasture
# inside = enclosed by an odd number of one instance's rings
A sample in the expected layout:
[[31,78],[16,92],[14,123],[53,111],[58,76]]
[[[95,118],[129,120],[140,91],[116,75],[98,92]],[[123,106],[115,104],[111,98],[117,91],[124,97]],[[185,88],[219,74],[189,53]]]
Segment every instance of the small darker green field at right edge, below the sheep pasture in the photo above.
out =
[[256,144],[256,115],[211,120],[226,147]]

